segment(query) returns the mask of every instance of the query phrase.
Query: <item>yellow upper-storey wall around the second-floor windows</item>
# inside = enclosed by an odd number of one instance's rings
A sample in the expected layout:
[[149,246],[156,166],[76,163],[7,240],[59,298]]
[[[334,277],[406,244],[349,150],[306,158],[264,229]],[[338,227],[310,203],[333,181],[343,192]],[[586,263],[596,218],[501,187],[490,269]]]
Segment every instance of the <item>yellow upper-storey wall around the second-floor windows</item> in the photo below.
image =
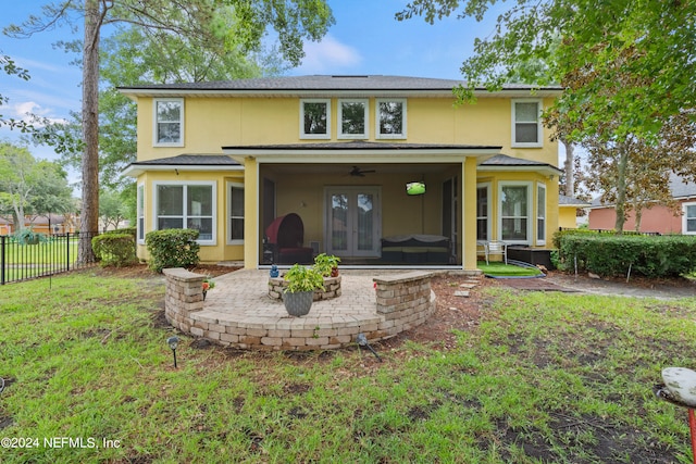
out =
[[[138,161],[182,153],[222,153],[223,146],[315,143],[337,141],[337,108],[331,99],[331,138],[300,139],[299,98],[187,98],[184,100],[184,147],[153,147],[152,98],[138,98]],[[551,103],[543,100],[544,105]],[[369,99],[370,141],[502,146],[501,152],[556,165],[558,143],[544,129],[544,147],[511,148],[509,98],[480,98],[455,106],[453,98],[408,98],[407,138],[375,138],[375,98]],[[211,116],[214,115],[214,116]]]

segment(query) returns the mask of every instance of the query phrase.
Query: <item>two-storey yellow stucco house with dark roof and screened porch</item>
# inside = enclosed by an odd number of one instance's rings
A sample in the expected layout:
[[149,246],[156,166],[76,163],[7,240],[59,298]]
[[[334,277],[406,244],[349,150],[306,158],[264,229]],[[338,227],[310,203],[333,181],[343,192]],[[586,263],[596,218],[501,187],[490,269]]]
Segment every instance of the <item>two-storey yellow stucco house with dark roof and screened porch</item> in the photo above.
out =
[[150,230],[200,231],[202,262],[327,252],[341,266],[476,268],[476,243],[550,246],[558,87],[298,76],[122,87],[137,102],[138,255]]

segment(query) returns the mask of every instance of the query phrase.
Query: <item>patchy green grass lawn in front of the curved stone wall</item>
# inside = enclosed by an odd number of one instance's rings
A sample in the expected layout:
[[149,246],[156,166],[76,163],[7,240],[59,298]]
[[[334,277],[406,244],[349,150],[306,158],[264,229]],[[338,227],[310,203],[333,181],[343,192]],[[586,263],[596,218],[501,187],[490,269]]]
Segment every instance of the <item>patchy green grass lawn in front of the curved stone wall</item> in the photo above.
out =
[[0,437],[23,446],[0,462],[692,462],[686,411],[651,389],[696,367],[694,298],[493,283],[475,321],[440,308],[442,339],[376,343],[383,363],[179,336],[174,369],[163,294],[103,269],[0,289]]

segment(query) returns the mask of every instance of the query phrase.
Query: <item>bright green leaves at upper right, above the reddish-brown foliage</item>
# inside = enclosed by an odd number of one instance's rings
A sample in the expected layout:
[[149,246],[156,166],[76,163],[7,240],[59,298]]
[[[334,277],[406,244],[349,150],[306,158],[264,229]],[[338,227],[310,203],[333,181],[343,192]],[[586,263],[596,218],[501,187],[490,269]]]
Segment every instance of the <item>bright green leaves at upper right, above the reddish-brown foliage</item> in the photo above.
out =
[[[432,24],[457,12],[482,21],[495,3],[412,0],[397,18],[421,15]],[[654,136],[670,116],[696,108],[695,13],[696,3],[685,0],[515,0],[498,16],[493,34],[475,40],[475,54],[461,68],[468,86],[459,95],[471,98],[482,85],[500,88],[524,73],[520,63],[546,63],[549,81],[563,86],[570,74],[589,68],[592,81],[567,87],[557,102],[564,112],[592,102],[594,113],[573,137],[596,133],[607,117],[618,123],[616,138]],[[626,53],[630,60],[624,60]],[[619,73],[635,80],[619,79]],[[538,74],[529,77],[536,81]],[[617,81],[624,85],[616,92],[600,91]]]

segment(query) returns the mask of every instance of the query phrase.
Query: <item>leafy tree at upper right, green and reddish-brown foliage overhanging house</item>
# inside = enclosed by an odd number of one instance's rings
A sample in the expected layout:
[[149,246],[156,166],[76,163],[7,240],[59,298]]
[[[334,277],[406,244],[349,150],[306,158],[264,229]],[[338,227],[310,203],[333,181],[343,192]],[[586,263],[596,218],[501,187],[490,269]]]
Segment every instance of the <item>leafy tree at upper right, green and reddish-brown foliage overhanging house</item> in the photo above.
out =
[[[495,3],[413,0],[397,17],[433,23],[458,11],[481,21]],[[462,65],[463,100],[520,74],[534,81],[538,70],[521,66],[530,62],[563,86],[547,122],[561,140],[591,147],[592,185],[616,202],[618,230],[626,208],[664,199],[670,172],[696,180],[695,2],[515,0],[474,51]]]

